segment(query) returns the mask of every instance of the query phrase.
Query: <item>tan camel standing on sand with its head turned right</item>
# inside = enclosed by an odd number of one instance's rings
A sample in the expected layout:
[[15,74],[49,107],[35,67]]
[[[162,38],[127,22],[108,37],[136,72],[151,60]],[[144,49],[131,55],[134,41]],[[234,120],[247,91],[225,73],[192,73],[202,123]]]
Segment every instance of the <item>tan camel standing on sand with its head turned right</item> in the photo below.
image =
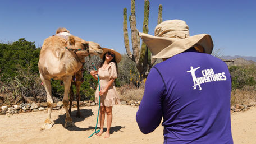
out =
[[[66,110],[65,127],[74,126],[70,113],[68,112],[68,92],[70,90],[72,76],[77,72],[81,73],[81,68],[85,62],[85,57],[90,55],[100,55],[103,53],[99,44],[92,41],[85,41],[77,36],[71,35],[65,28],[59,28],[56,35],[44,40],[38,68],[40,78],[44,83],[47,93],[48,115],[41,129],[52,127],[51,112],[53,105],[51,78],[64,82],[64,96],[62,103]],[[79,73],[77,73],[79,75]],[[80,79],[79,79],[80,80]]]

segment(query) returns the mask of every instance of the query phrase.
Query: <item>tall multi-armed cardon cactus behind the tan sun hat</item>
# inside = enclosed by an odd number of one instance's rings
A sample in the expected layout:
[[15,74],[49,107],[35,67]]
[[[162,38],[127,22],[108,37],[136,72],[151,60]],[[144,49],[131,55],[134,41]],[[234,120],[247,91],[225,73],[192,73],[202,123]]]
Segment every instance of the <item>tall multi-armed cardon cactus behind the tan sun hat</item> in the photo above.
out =
[[[148,34],[148,17],[149,17],[149,1],[145,0],[144,3],[144,21],[143,21],[143,33]],[[145,72],[153,66],[156,59],[152,59],[151,53],[144,43],[140,47],[140,38],[138,30],[136,29],[136,13],[135,13],[135,0],[131,0],[131,16],[129,17],[130,28],[131,28],[131,43],[132,52],[129,45],[129,37],[127,30],[127,9],[124,8],[124,42],[125,49],[128,57],[136,62],[136,67],[141,76],[145,76]],[[159,5],[158,10],[158,24],[162,22],[162,5]],[[141,77],[143,78],[143,77]]]

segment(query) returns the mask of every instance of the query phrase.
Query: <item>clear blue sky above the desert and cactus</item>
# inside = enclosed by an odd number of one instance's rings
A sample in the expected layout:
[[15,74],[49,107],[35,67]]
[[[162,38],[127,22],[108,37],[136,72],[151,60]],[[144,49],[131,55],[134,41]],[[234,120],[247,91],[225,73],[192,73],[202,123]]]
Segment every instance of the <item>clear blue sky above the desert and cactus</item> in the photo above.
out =
[[[186,21],[190,36],[210,34],[214,49],[221,49],[222,55],[256,56],[255,1],[149,1],[149,34],[154,35],[158,6],[162,4],[163,21]],[[127,8],[127,15],[130,15],[130,3],[130,0],[0,1],[0,42],[25,38],[41,47],[44,39],[53,35],[58,27],[66,27],[71,34],[86,41],[126,53],[122,13]],[[143,10],[144,0],[136,0],[139,31],[142,31]]]

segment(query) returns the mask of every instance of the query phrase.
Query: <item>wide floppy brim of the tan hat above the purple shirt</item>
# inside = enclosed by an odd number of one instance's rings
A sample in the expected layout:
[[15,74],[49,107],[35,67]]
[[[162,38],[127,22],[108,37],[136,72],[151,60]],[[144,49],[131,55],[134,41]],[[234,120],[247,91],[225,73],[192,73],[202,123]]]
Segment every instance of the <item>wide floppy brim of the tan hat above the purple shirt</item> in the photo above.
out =
[[204,48],[204,53],[211,54],[213,41],[208,34],[189,36],[188,38],[166,38],[139,33],[143,42],[148,46],[153,58],[170,58],[184,52],[195,44]]

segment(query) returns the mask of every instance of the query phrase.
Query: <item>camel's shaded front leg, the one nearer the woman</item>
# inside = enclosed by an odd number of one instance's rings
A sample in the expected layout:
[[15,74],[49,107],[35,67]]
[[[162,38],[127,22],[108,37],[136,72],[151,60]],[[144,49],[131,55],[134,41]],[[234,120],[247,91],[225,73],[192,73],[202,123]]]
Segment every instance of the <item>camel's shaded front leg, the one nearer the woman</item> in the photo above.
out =
[[74,122],[72,122],[72,118],[70,117],[70,113],[68,112],[68,108],[67,108],[68,107],[68,92],[70,90],[71,80],[72,80],[72,76],[67,76],[64,80],[65,91],[64,91],[62,103],[65,106],[65,110],[66,110],[65,128],[75,125]]

